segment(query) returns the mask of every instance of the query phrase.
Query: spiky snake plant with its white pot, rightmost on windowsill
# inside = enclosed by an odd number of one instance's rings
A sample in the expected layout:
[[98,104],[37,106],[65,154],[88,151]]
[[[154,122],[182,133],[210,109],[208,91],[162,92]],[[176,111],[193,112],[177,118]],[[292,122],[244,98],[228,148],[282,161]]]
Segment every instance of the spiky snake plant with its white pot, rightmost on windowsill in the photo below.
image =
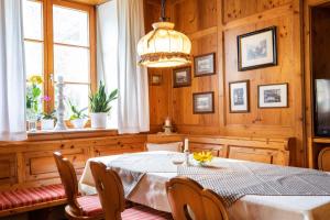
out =
[[108,96],[106,86],[100,81],[100,86],[96,94],[89,96],[90,101],[90,120],[92,129],[106,129],[107,116],[111,110],[110,103],[118,98],[118,89],[111,91]]

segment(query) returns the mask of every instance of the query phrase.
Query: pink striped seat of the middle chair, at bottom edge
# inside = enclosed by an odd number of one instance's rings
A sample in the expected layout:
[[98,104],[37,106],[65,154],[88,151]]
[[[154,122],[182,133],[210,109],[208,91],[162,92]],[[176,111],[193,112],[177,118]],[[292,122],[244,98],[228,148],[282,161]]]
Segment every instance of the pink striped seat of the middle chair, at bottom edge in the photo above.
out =
[[145,206],[135,206],[130,209],[125,209],[121,213],[122,220],[165,220],[173,219],[170,213],[151,209]]

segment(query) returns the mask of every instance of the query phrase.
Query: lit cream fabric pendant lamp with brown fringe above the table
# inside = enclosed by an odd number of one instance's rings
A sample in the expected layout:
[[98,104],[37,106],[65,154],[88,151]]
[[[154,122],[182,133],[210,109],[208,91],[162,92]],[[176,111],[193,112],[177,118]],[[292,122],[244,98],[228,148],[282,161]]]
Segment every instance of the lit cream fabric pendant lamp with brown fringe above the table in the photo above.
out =
[[153,29],[139,41],[140,65],[175,67],[190,64],[191,42],[188,36],[174,30],[174,23],[166,22],[165,0],[162,0],[161,22],[153,23]]

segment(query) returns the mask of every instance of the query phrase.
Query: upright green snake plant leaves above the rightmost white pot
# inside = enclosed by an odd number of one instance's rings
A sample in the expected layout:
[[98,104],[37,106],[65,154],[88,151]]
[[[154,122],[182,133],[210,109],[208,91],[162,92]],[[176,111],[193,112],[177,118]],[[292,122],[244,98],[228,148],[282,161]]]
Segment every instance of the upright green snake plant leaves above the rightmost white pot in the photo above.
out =
[[106,86],[102,81],[100,81],[98,91],[89,96],[90,110],[95,113],[107,113],[111,110],[110,103],[116,99],[118,99],[118,89],[114,89],[109,96],[107,96]]

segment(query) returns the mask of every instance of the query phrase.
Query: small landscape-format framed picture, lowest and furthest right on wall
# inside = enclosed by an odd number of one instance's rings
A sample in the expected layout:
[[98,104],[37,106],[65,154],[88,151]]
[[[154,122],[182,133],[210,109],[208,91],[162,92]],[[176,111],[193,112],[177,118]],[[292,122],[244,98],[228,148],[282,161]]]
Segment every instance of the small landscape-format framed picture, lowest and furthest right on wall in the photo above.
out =
[[288,107],[288,84],[273,84],[257,86],[258,108]]

